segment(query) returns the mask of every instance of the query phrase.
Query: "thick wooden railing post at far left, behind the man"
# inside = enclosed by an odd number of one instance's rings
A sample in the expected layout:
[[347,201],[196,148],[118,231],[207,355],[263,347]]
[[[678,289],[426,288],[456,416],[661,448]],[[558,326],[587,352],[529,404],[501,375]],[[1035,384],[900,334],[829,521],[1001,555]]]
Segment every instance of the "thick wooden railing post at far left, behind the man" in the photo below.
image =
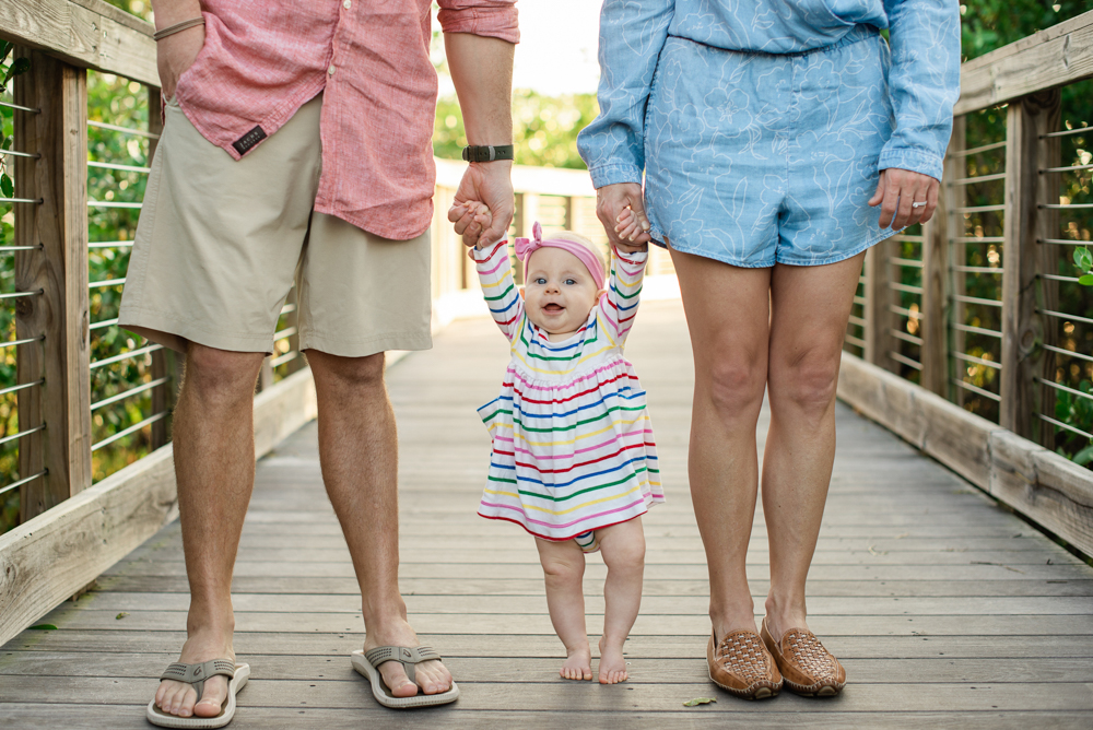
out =
[[23,204],[15,219],[19,244],[40,245],[17,252],[15,286],[42,294],[17,301],[15,331],[19,339],[45,335],[40,348],[17,354],[20,382],[45,377],[40,415],[31,412],[35,398],[20,398],[20,428],[46,424],[40,451],[27,449],[27,463],[21,454],[20,469],[38,461],[49,470],[22,487],[20,516],[27,520],[91,485],[87,74],[38,51],[20,55],[31,70],[16,78],[15,103],[40,113],[15,111],[15,148],[42,156],[19,161],[16,197],[43,202]]

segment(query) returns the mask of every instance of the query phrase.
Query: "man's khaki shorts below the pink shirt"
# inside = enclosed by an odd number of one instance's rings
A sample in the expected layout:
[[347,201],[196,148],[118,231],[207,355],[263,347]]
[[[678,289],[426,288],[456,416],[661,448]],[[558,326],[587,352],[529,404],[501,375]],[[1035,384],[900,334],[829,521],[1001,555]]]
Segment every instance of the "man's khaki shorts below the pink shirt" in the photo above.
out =
[[312,210],[321,95],[243,160],[168,104],[119,323],[174,350],[273,352],[295,279],[299,349],[345,357],[426,350],[428,232],[372,235]]

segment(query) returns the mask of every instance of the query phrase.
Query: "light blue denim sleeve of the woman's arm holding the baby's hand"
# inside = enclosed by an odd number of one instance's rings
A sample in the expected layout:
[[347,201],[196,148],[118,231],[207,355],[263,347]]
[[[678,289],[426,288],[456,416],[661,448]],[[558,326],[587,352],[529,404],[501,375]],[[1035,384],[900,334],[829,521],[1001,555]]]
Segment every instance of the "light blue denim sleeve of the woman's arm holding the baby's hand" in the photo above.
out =
[[592,186],[642,181],[645,107],[675,0],[604,0],[600,11],[600,114],[577,136]]

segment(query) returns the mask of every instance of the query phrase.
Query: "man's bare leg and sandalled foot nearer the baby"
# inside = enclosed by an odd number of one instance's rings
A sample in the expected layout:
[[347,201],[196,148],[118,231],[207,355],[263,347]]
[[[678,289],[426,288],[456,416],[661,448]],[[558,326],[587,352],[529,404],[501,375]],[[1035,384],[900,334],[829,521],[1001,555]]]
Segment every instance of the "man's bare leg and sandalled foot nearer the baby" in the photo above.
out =
[[[399,592],[399,447],[384,354],[340,357],[308,350],[307,362],[318,397],[322,480],[361,585],[364,648],[418,646]],[[379,672],[396,697],[418,694],[399,662],[380,664]],[[425,694],[451,686],[438,661],[418,664],[415,679]]]

